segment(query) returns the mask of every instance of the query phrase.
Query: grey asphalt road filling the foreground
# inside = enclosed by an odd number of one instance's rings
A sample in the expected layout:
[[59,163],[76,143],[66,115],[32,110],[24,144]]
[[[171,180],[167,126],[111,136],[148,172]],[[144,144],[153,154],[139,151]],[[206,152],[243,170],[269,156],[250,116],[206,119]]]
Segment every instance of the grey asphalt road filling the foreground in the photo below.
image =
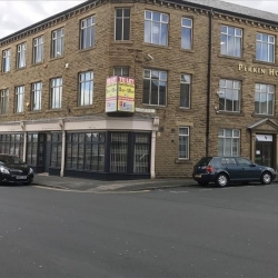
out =
[[278,185],[0,187],[0,277],[278,277]]

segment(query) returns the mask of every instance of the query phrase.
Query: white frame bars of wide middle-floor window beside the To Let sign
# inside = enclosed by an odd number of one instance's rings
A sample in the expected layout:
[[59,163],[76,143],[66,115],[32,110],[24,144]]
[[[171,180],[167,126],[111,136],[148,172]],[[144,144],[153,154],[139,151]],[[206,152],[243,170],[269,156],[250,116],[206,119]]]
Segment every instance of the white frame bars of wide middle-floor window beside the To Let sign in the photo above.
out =
[[[152,75],[153,73],[153,75]],[[155,77],[157,78],[155,78]],[[163,78],[163,76],[166,78]],[[143,70],[143,82],[148,81],[149,82],[149,91],[148,91],[148,102],[145,102],[145,89],[143,89],[143,98],[142,98],[142,103],[147,106],[160,106],[160,107],[166,107],[167,106],[167,79],[168,79],[168,72],[163,70],[152,70],[152,69],[145,69]],[[152,81],[158,82],[158,91],[157,91],[157,103],[151,103],[151,86]],[[161,85],[165,83],[165,103],[160,105],[160,87]]]

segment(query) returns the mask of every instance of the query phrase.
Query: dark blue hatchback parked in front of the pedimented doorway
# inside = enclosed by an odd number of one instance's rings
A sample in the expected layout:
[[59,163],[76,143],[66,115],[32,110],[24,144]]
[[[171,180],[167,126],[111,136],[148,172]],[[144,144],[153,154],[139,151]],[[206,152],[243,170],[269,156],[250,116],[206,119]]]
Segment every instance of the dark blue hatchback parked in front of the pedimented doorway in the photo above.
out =
[[214,182],[225,187],[229,182],[259,181],[269,185],[276,172],[270,167],[256,165],[242,157],[202,157],[193,167],[192,178],[199,185]]

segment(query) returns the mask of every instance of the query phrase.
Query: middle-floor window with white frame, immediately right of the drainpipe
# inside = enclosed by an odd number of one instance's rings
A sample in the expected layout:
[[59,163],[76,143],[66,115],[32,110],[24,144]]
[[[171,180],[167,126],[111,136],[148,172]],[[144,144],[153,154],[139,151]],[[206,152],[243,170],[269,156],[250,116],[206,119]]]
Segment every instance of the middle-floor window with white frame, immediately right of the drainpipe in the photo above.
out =
[[240,81],[226,79],[220,80],[218,91],[219,111],[240,111]]

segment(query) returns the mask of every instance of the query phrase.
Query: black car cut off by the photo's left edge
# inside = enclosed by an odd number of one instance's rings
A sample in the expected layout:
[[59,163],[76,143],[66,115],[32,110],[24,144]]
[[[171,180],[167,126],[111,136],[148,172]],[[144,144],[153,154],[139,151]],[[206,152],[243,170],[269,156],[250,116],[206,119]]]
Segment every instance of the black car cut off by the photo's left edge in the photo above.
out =
[[0,153],[0,185],[3,182],[31,183],[33,170],[21,159]]

